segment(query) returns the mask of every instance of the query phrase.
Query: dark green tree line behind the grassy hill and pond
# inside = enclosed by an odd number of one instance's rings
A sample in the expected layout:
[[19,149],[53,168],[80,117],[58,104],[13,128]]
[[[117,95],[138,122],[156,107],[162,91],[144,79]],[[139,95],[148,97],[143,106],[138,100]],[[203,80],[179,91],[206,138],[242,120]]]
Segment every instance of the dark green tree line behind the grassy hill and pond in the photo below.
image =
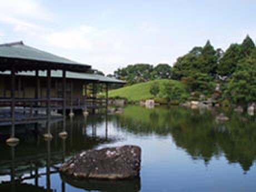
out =
[[221,99],[232,103],[255,102],[256,47],[249,36],[242,43],[231,44],[227,50],[215,49],[210,41],[194,47],[169,64],[134,64],[108,75],[135,84],[155,79],[174,79],[185,83],[190,92],[210,95],[221,84]]

